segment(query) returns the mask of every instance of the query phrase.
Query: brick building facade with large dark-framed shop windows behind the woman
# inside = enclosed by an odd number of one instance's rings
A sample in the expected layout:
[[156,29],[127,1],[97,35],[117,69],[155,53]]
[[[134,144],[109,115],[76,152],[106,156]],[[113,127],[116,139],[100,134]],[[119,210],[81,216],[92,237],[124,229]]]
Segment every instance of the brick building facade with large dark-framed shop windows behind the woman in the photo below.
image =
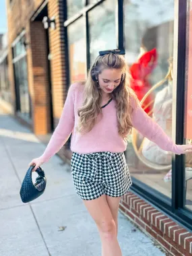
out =
[[[176,143],[191,143],[191,10],[191,0],[7,0],[9,97],[0,89],[0,104],[50,134],[98,51],[125,49],[143,109]],[[121,211],[170,255],[191,255],[192,155],[164,152],[134,129],[127,139],[133,186]],[[69,143],[61,156],[70,158]]]

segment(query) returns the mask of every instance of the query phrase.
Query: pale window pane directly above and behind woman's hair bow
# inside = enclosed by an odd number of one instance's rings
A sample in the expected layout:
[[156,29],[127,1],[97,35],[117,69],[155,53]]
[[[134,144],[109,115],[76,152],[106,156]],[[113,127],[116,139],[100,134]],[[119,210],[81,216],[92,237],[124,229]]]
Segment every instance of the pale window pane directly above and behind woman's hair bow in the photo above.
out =
[[106,0],[88,12],[91,64],[99,51],[117,48],[115,9],[116,1]]

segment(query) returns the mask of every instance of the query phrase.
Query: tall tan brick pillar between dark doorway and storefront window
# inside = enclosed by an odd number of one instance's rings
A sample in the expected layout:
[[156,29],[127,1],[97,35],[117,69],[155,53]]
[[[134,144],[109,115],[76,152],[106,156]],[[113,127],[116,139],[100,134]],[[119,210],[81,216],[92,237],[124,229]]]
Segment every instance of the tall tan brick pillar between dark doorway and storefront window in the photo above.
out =
[[56,29],[49,30],[51,50],[51,81],[53,88],[53,116],[55,126],[61,116],[66,97],[65,41],[63,27],[63,0],[49,1],[49,17],[55,16]]

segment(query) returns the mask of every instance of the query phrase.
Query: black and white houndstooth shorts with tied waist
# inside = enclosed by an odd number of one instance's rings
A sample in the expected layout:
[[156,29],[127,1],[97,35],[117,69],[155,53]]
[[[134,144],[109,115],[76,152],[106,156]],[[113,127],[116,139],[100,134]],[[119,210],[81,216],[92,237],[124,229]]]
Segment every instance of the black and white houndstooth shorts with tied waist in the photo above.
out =
[[123,152],[73,152],[71,173],[75,191],[84,200],[96,199],[103,194],[121,197],[132,185]]

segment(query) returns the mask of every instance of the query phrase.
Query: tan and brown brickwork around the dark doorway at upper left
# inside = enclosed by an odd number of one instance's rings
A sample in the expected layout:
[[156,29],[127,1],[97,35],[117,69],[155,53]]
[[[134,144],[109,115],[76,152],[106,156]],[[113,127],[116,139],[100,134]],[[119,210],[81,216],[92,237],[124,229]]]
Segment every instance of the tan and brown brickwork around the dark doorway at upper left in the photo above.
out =
[[[15,81],[11,44],[23,30],[26,30],[26,41],[29,42],[27,49],[28,84],[30,98],[32,99],[33,125],[31,128],[38,135],[51,132],[45,31],[41,22],[30,22],[30,18],[43,2],[42,0],[13,0],[10,5],[9,0],[7,0],[9,77],[11,81],[12,105],[15,110]],[[63,0],[49,0],[47,6],[49,18],[55,16],[56,21],[56,29],[52,30],[49,28],[50,53],[52,57],[53,119],[54,127],[56,127],[67,96]]]

